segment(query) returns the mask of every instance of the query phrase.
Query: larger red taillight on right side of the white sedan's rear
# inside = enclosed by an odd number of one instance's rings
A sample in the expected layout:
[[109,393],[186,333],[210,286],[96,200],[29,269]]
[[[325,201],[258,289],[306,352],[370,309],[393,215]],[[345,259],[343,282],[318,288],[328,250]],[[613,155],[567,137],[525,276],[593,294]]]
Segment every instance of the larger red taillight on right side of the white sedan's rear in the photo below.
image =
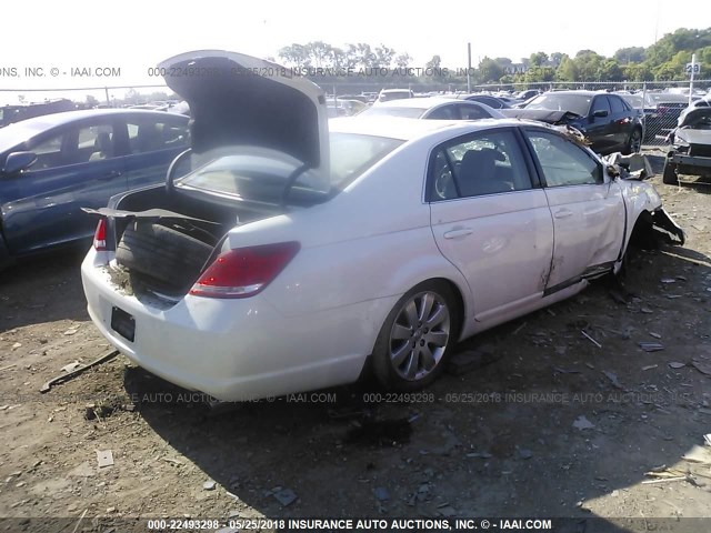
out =
[[299,252],[298,242],[239,248],[221,253],[190,289],[207,298],[249,298],[271,283]]

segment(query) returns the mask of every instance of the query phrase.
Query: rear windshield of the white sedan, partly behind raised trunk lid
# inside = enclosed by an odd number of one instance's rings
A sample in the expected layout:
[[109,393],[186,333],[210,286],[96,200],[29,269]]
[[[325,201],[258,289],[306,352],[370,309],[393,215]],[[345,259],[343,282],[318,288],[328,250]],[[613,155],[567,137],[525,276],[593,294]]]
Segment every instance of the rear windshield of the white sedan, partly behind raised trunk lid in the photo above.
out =
[[[331,133],[328,180],[311,170],[301,172],[301,163],[293,158],[239,153],[222,155],[177,180],[176,184],[243,201],[278,204],[286,198],[289,204],[310,205],[332,198],[402,142],[357,133]],[[293,175],[298,178],[289,187]]]

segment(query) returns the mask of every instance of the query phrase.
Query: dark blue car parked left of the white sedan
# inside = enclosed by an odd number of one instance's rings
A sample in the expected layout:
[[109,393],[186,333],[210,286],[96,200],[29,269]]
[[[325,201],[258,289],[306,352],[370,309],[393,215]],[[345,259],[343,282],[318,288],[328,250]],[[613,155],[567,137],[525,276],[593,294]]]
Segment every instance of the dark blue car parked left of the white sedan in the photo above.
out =
[[0,268],[90,239],[81,208],[166,178],[190,145],[189,118],[102,109],[28,119],[0,129]]

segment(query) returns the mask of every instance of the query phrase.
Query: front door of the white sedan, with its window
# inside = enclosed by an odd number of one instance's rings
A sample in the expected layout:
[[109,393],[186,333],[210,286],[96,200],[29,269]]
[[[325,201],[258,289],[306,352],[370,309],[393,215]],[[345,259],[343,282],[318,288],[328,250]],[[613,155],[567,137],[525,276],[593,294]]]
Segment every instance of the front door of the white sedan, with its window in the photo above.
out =
[[588,150],[550,130],[524,129],[553,215],[547,293],[609,271],[620,257],[625,209],[620,184]]

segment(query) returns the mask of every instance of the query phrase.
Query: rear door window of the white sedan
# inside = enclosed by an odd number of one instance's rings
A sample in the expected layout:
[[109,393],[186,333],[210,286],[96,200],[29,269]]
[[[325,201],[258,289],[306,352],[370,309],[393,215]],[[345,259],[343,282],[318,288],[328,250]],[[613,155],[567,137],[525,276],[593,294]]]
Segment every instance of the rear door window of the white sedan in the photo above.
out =
[[531,187],[519,142],[510,130],[460,138],[441,145],[430,158],[430,201],[522,191]]

